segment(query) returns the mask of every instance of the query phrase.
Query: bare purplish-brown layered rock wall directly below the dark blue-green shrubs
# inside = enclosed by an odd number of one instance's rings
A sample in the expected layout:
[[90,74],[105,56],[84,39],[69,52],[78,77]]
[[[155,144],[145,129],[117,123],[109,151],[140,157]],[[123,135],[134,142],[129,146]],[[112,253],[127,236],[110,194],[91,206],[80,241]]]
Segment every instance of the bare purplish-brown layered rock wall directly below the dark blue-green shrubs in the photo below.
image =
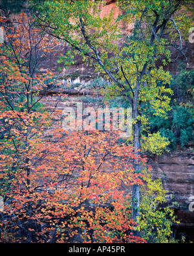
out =
[[194,196],[194,154],[163,154],[149,157],[147,163],[153,167],[154,177],[162,178],[164,189],[171,195],[168,200],[177,200],[182,209],[189,211],[189,196]]

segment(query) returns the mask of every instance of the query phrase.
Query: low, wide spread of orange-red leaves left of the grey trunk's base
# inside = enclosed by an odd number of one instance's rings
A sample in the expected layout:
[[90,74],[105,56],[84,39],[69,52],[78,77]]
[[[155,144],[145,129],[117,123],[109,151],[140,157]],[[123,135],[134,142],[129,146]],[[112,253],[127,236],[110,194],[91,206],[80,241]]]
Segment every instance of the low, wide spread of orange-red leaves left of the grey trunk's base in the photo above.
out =
[[[127,163],[129,154],[134,157],[131,146],[118,146],[116,137],[99,132],[54,137],[58,143],[38,136],[28,140],[28,149],[19,148],[23,157],[15,160],[17,172],[4,194],[1,241],[47,242],[56,229],[58,242],[144,242],[130,235],[134,222],[121,189],[122,183],[142,183]],[[16,156],[1,157],[5,180]]]

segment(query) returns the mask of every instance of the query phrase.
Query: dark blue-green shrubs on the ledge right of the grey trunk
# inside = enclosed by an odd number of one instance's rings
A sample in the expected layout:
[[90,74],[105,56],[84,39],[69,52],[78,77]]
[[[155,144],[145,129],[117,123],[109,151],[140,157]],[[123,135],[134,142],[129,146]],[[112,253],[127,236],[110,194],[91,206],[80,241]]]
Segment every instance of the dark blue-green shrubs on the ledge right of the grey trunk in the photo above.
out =
[[188,71],[182,62],[178,66],[178,75],[173,77],[166,87],[173,90],[166,116],[156,115],[149,103],[143,104],[143,115],[147,122],[142,124],[142,134],[160,132],[169,139],[167,150],[175,150],[178,145],[187,146],[193,140],[193,71]]

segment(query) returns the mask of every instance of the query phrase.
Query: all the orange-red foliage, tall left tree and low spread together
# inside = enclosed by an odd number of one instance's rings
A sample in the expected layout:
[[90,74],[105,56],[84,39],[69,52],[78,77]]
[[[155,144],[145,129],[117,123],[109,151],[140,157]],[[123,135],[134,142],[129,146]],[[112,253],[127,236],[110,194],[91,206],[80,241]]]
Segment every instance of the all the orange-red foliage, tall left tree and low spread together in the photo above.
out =
[[146,242],[131,233],[130,189],[142,183],[133,148],[98,131],[44,139],[51,121],[34,91],[53,76],[37,73],[49,47],[29,21],[7,25],[0,49],[1,242]]

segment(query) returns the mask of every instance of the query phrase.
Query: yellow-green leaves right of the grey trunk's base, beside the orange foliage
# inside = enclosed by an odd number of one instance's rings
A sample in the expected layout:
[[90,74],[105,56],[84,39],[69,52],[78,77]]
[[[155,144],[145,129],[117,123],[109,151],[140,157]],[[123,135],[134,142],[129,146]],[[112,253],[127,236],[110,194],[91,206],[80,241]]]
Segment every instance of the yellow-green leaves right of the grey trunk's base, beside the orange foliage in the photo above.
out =
[[149,172],[144,181],[146,184],[141,187],[142,199],[138,226],[142,237],[152,243],[176,242],[171,239],[171,225],[180,224],[180,222],[176,220],[173,209],[169,207],[161,209],[158,206],[166,203],[167,191],[162,188],[162,181],[153,180]]

